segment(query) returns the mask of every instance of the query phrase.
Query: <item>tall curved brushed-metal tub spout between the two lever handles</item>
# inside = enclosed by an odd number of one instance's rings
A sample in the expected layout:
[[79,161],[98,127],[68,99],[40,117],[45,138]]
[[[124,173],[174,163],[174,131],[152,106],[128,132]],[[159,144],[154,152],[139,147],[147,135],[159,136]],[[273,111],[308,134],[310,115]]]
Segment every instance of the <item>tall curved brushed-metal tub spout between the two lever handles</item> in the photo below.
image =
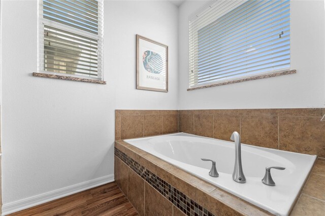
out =
[[243,173],[242,167],[242,153],[240,149],[240,135],[238,132],[233,132],[232,136],[230,137],[231,140],[235,141],[235,167],[233,172],[233,179],[235,182],[238,183],[245,183],[246,178]]

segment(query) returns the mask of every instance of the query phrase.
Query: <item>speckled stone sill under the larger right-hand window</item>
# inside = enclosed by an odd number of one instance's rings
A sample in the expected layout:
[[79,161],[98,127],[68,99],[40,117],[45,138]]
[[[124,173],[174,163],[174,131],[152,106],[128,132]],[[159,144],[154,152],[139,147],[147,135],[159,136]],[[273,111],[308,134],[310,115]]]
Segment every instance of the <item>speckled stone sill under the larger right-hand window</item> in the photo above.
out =
[[238,80],[231,80],[231,81],[226,81],[226,82],[222,82],[222,83],[215,83],[215,84],[209,84],[209,85],[205,85],[205,86],[188,88],[187,91],[210,88],[210,87],[215,87],[215,86],[223,86],[223,85],[228,85],[228,84],[233,84],[233,83],[241,83],[241,82],[250,81],[250,80],[259,80],[259,79],[264,79],[264,78],[269,78],[269,77],[278,77],[278,76],[282,76],[282,75],[289,75],[289,74],[296,74],[296,73],[297,73],[297,70],[285,70],[285,71],[274,72],[271,74],[257,75],[257,76],[242,78],[242,79],[238,79]]

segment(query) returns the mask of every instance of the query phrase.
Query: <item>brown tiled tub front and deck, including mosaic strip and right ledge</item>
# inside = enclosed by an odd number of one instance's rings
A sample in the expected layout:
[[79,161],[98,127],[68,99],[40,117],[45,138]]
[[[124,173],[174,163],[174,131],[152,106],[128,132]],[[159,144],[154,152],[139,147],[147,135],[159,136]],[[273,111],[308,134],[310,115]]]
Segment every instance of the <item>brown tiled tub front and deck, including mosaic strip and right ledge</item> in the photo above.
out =
[[[270,215],[123,140],[115,141],[114,172],[140,215]],[[290,215],[323,215],[324,184],[325,159],[319,158]]]

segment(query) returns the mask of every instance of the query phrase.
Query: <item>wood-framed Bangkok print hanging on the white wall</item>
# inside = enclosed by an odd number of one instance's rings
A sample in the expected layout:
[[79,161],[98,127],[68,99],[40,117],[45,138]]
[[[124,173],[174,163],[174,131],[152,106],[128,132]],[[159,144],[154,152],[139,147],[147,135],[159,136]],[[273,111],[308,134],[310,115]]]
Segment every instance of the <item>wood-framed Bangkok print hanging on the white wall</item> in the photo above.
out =
[[168,92],[168,46],[137,34],[137,89]]

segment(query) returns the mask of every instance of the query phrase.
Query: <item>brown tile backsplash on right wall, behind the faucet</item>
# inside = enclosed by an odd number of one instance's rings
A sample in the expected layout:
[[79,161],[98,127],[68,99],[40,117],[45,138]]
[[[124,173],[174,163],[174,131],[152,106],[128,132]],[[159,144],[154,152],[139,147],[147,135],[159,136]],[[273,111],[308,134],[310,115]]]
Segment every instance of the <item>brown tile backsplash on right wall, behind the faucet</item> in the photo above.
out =
[[180,110],[179,132],[325,157],[325,109]]

